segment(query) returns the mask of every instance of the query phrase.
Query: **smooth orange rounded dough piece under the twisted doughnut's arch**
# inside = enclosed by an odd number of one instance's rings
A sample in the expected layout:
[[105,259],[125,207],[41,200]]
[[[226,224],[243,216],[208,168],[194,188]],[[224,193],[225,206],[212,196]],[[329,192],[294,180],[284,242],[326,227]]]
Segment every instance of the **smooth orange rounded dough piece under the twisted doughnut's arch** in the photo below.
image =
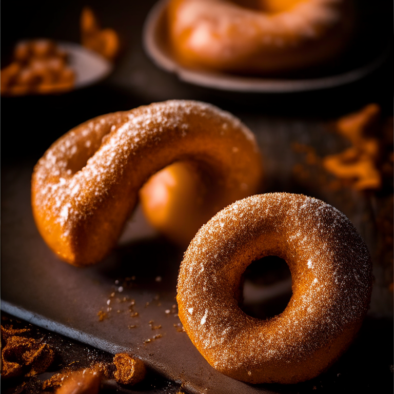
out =
[[156,172],[140,190],[149,223],[186,247],[199,228],[221,208],[211,174],[193,162],[176,162]]

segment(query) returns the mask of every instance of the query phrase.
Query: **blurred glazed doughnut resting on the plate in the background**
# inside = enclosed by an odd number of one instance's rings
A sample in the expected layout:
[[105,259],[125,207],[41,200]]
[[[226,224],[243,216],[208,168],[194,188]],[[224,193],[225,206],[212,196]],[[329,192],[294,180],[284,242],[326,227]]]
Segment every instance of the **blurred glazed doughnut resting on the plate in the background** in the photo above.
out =
[[169,43],[187,67],[281,73],[340,54],[353,14],[351,0],[171,0]]

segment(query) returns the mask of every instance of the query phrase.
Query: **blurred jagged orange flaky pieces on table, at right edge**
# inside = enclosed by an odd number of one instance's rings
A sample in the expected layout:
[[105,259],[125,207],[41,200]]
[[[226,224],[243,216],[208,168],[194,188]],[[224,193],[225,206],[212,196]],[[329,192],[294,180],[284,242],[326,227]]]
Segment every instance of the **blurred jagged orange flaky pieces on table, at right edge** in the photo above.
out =
[[[359,191],[378,190],[382,187],[385,173],[392,172],[392,143],[381,138],[384,128],[379,106],[369,104],[361,111],[346,115],[336,122],[336,132],[351,144],[342,152],[319,157],[311,146],[293,143],[291,147],[295,152],[305,154],[306,165],[321,170],[320,178],[335,176],[323,181],[331,190],[339,190],[344,186]],[[314,178],[301,163],[293,167],[293,173],[307,181]]]

